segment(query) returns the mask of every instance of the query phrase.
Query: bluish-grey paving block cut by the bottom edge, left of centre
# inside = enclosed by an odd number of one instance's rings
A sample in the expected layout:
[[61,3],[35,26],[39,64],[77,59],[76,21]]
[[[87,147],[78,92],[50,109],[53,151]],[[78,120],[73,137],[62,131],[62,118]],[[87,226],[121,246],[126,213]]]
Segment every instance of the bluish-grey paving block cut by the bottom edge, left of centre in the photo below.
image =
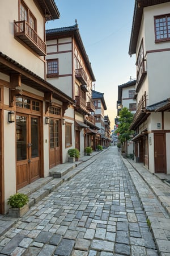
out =
[[54,252],[55,255],[57,256],[70,256],[71,255],[71,251],[73,250],[74,247],[74,240],[68,240],[68,239],[64,239],[59,243],[56,251]]

